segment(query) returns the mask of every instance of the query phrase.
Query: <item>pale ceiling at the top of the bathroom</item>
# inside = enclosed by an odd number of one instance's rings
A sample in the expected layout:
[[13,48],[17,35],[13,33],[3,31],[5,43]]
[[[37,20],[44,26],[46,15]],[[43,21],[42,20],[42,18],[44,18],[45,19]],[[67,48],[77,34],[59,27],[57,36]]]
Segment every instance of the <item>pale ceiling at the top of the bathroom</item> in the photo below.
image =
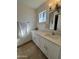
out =
[[47,0],[17,0],[18,2],[23,2],[23,4],[28,5],[32,8],[38,8],[41,4],[43,4]]

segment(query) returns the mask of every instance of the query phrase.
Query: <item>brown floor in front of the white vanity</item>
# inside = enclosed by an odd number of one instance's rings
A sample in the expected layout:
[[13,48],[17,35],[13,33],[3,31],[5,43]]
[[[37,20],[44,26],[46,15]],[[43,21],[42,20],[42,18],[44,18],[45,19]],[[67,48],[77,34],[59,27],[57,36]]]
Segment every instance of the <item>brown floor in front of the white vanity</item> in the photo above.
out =
[[17,48],[17,59],[47,59],[40,49],[31,41]]

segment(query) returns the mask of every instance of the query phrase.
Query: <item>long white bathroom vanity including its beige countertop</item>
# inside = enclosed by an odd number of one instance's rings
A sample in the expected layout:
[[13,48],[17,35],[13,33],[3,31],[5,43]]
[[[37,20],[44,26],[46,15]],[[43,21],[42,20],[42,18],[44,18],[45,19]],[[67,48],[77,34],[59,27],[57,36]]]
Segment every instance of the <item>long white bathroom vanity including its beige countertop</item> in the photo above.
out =
[[48,59],[61,59],[61,36],[49,32],[32,31],[32,40]]

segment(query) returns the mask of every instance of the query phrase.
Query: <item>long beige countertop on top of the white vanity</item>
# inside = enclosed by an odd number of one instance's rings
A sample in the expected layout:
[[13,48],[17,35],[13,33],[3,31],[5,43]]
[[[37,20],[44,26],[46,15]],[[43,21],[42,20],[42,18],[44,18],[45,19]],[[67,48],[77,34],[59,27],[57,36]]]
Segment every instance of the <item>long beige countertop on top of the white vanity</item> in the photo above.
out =
[[40,36],[49,40],[50,42],[55,43],[58,46],[61,46],[61,34],[52,35],[50,32],[42,32],[39,30],[33,32],[39,34]]

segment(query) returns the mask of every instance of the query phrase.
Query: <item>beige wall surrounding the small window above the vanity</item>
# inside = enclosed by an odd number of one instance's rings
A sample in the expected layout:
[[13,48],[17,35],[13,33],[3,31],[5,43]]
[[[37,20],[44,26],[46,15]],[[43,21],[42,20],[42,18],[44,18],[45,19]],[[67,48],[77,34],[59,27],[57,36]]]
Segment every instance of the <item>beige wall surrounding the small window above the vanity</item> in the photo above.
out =
[[[45,3],[43,3],[40,7],[38,7],[36,9],[36,16],[37,16],[37,27],[41,30],[41,29],[47,29],[48,28],[48,17],[47,17],[47,22],[44,23],[39,23],[39,16],[38,14],[44,10],[48,10],[48,1],[46,1]],[[48,11],[47,11],[48,12]],[[47,14],[48,15],[48,14]]]

